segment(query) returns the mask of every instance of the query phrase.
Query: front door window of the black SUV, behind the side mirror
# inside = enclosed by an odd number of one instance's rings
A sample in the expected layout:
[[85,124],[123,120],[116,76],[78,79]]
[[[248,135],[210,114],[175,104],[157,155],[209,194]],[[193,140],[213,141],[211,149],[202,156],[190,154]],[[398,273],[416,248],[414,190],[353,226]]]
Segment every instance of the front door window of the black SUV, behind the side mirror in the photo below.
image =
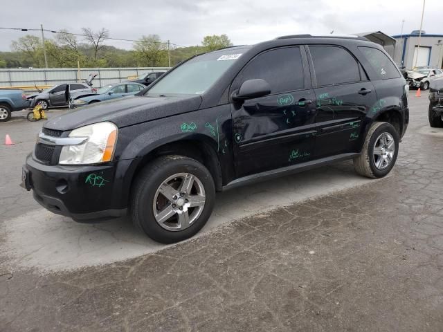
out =
[[261,78],[271,85],[271,93],[304,88],[303,63],[300,48],[276,48],[251,60],[239,75],[240,84]]

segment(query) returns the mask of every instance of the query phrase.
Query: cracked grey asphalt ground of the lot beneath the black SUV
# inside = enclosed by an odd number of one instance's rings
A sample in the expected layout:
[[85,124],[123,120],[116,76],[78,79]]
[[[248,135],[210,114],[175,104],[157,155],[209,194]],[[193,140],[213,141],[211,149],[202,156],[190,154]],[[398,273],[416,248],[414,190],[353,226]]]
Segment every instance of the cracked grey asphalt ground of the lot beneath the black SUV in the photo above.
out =
[[17,113],[0,124],[15,142],[0,147],[0,331],[443,331],[443,129],[427,106],[410,93],[386,178],[347,162],[217,194],[174,246],[40,208],[18,183],[42,124]]

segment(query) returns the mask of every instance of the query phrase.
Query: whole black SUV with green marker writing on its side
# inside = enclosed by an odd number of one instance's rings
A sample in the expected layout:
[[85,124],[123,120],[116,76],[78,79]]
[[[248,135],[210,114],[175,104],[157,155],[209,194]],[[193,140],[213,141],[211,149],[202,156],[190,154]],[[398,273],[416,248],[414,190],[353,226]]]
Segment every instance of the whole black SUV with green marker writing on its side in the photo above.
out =
[[279,37],[198,55],[135,97],[49,120],[23,185],[76,221],[129,213],[156,241],[196,234],[215,192],[339,160],[379,178],[408,125],[408,86],[362,37]]

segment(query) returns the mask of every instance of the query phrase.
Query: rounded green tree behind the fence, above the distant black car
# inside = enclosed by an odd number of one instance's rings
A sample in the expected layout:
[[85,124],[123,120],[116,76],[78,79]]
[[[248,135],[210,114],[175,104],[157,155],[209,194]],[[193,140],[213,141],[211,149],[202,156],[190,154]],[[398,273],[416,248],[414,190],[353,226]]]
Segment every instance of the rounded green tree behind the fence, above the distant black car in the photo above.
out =
[[134,44],[138,66],[168,66],[168,46],[159,35],[147,35]]

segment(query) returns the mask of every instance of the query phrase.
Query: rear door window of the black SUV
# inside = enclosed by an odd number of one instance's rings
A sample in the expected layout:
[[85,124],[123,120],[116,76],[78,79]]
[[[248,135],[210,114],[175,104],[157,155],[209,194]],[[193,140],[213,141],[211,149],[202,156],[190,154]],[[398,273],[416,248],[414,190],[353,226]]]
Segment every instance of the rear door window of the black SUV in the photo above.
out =
[[334,85],[360,81],[359,64],[344,48],[309,46],[317,85]]

